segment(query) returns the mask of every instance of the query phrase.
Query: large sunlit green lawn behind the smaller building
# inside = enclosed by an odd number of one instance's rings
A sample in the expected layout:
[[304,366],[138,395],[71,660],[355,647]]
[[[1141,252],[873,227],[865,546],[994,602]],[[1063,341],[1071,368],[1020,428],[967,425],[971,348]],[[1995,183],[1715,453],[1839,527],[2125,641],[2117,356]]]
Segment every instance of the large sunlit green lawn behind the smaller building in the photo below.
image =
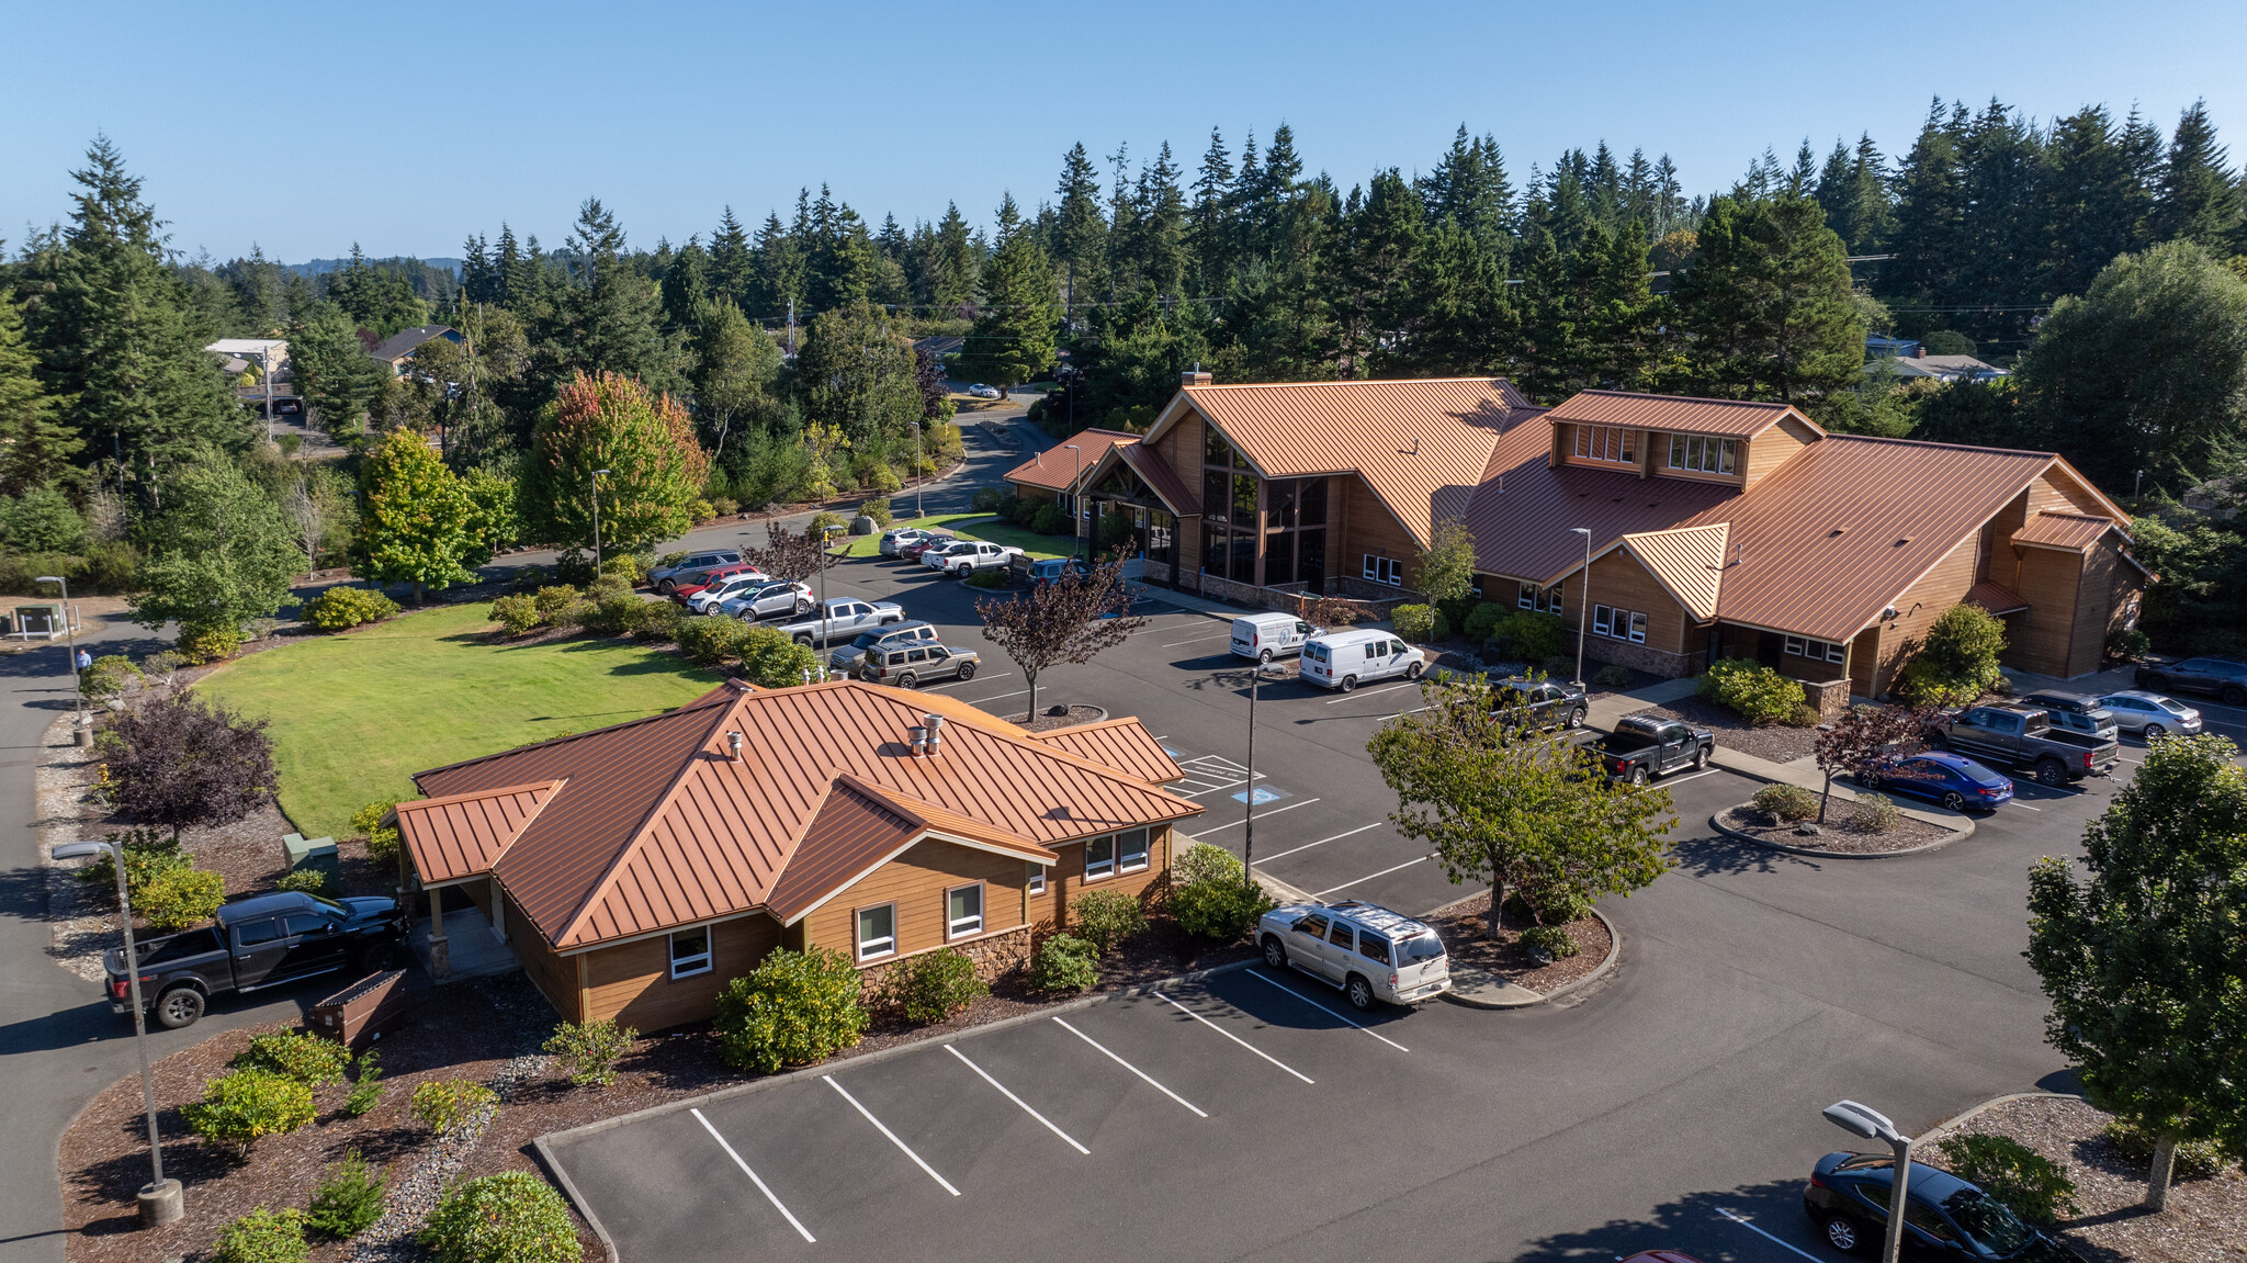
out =
[[488,609],[294,640],[198,692],[272,719],[281,809],[308,838],[339,838],[362,805],[416,798],[416,771],[656,715],[719,681],[629,640],[492,643]]

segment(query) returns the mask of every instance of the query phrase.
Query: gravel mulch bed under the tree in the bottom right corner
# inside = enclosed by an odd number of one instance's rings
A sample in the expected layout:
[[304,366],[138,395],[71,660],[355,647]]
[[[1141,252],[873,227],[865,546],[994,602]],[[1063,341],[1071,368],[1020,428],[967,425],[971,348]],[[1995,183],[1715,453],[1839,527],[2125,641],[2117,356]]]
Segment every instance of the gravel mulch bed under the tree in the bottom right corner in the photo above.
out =
[[[2029,1097],[1984,1110],[1966,1135],[2009,1135],[2067,1166],[2076,1214],[2060,1241],[2092,1263],[2238,1263],[2247,1259],[2247,1175],[2225,1166],[2168,1191],[2168,1209],[2146,1214],[2146,1164],[2123,1157],[2103,1130],[2112,1119],[2076,1097]],[[1939,1157],[1928,1146],[1928,1157]]]

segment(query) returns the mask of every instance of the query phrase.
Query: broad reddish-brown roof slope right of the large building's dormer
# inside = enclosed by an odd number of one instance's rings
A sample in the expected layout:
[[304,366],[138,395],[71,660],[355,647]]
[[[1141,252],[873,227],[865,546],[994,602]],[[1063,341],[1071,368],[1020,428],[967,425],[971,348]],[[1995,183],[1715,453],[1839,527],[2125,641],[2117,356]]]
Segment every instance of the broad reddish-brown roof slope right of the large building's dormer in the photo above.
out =
[[1829,434],[1694,521],[1732,528],[1717,616],[1847,640],[2054,461]]

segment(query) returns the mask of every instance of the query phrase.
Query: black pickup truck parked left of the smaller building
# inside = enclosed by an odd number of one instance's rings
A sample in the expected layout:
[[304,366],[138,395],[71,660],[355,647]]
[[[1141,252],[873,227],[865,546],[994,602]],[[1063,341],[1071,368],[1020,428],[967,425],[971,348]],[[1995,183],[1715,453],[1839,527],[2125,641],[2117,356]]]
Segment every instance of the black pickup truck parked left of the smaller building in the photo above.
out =
[[[321,899],[297,890],[227,903],[200,930],[137,939],[142,1005],[164,1027],[191,1027],[211,996],[261,991],[301,978],[386,969],[404,955],[395,899]],[[124,948],[110,948],[112,1014],[133,1011]]]

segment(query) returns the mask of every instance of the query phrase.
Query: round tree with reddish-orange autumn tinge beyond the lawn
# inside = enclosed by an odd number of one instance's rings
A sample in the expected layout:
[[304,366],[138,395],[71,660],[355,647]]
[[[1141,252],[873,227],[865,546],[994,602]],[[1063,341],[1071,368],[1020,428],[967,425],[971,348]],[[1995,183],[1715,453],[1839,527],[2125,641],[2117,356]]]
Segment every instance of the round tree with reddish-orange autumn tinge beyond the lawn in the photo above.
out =
[[580,371],[530,436],[517,494],[530,539],[593,544],[593,470],[609,470],[600,476],[602,548],[629,553],[694,526],[710,456],[670,396],[618,373]]

